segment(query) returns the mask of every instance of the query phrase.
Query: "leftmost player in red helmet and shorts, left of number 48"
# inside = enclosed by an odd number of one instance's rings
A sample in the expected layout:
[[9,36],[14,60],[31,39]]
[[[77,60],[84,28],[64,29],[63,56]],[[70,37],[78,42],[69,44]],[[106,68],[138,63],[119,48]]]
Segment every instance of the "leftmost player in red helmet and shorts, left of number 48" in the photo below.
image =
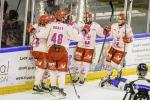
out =
[[31,32],[30,44],[32,46],[31,54],[35,58],[35,81],[33,90],[37,92],[43,92],[43,89],[39,86],[42,76],[47,68],[47,37],[49,29],[46,26],[50,21],[50,15],[42,15],[39,18],[39,24],[29,25],[27,29]]

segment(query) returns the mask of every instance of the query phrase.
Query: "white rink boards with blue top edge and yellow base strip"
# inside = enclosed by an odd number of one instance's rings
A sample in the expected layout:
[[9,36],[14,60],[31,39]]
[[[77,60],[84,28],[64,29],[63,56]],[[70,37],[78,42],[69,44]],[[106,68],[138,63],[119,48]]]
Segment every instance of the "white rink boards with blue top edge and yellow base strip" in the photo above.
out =
[[[108,38],[103,50],[101,63],[96,66],[99,59],[103,39],[97,38],[96,55],[93,58],[93,64],[89,69],[87,80],[94,80],[104,77],[105,71],[99,71],[105,65],[104,59],[106,52],[111,45],[111,38]],[[72,70],[74,66],[74,50],[77,42],[70,43],[69,49],[69,67]],[[150,34],[135,35],[134,42],[128,48],[126,55],[126,67],[123,68],[123,75],[135,74],[135,67],[138,63],[144,62],[150,65]],[[34,59],[30,55],[30,47],[14,47],[0,50],[0,94],[14,93],[31,89],[34,80]],[[66,76],[66,82],[70,82],[69,76]]]

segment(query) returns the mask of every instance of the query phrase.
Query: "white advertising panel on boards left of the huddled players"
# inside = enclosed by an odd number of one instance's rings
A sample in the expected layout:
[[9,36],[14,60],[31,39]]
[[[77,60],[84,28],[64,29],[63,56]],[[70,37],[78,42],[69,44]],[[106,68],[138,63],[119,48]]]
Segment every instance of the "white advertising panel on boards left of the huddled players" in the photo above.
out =
[[29,50],[0,53],[0,87],[33,80],[35,65]]

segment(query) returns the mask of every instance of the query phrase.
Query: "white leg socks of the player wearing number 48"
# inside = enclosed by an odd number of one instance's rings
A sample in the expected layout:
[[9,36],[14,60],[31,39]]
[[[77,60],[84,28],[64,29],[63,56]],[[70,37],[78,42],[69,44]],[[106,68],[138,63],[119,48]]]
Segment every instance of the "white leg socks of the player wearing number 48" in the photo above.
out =
[[56,86],[56,81],[58,79],[58,88],[64,89],[66,73],[60,72],[60,71],[53,71],[53,70],[49,70],[49,73],[51,75],[51,77],[50,77],[51,86]]

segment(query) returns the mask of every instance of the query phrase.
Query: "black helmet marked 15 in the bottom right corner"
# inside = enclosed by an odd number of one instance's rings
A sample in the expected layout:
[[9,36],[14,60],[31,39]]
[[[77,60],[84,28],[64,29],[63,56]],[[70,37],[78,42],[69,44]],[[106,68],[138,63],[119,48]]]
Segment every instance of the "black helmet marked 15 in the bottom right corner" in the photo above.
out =
[[146,76],[147,71],[148,71],[148,67],[147,67],[147,65],[145,63],[140,63],[137,66],[137,74],[138,74],[138,76]]

